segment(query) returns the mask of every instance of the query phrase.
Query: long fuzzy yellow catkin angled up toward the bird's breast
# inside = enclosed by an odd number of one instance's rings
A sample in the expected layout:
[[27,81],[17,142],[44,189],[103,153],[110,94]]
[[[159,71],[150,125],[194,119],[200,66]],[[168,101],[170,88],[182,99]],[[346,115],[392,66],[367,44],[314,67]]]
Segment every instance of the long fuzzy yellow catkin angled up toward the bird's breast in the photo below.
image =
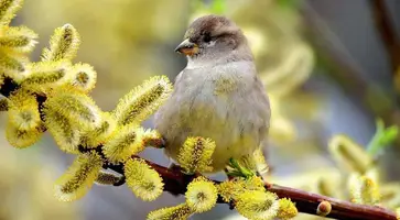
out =
[[172,85],[165,76],[156,76],[122,97],[113,114],[118,124],[140,123],[150,117],[170,96]]

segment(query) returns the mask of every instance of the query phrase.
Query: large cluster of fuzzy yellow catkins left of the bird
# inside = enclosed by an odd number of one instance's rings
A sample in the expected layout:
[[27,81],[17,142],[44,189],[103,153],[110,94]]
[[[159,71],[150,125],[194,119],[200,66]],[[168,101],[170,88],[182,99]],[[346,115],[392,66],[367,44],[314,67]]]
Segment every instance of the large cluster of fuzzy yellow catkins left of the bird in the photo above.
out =
[[[48,131],[60,148],[76,154],[67,172],[56,180],[60,200],[83,197],[94,183],[118,185],[122,180],[143,200],[163,191],[160,175],[142,160],[132,158],[162,139],[140,123],[156,110],[172,91],[164,76],[153,77],[119,101],[116,110],[102,111],[90,98],[96,72],[74,63],[79,33],[65,24],[55,30],[39,62],[28,55],[37,35],[23,26],[9,26],[22,0],[0,0],[1,110],[8,111],[6,135],[14,147],[29,147]],[[104,170],[123,165],[123,177]]]

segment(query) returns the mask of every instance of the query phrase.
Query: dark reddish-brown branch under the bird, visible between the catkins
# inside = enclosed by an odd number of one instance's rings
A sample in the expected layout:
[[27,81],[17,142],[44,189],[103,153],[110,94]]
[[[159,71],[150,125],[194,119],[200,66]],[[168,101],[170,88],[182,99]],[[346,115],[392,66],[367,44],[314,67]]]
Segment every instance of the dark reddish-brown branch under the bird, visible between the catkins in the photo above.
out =
[[[11,79],[6,79],[4,85],[0,89],[0,94],[9,97],[13,91],[19,88],[18,84],[12,81]],[[39,108],[41,110],[43,102],[46,97],[39,97]],[[96,148],[86,150],[79,147],[79,151],[85,153],[87,151],[96,151],[100,155],[101,145]],[[139,158],[138,156],[133,156],[133,158]],[[166,168],[161,165],[158,165],[153,162],[145,161],[153,169],[155,169],[163,179],[164,183],[164,191],[169,191],[173,195],[184,195],[186,191],[187,185],[196,177],[196,175],[186,175],[183,174],[179,166]],[[106,164],[104,168],[112,169],[121,175],[123,175],[123,165],[122,164]],[[216,184],[220,182],[214,180]],[[118,185],[122,185],[123,182],[118,183]],[[300,212],[310,213],[316,216],[316,209],[321,201],[328,201],[332,205],[332,211],[327,215],[327,218],[335,219],[352,219],[352,220],[396,220],[396,213],[385,208],[372,207],[372,206],[361,206],[355,205],[348,201],[342,201],[338,199],[321,196],[317,194],[311,194],[303,190],[283,187],[274,184],[264,185],[266,189],[278,195],[279,198],[290,198],[295,202],[296,208]],[[223,199],[218,199],[219,204],[226,204]],[[234,208],[233,204],[228,204],[230,208]]]

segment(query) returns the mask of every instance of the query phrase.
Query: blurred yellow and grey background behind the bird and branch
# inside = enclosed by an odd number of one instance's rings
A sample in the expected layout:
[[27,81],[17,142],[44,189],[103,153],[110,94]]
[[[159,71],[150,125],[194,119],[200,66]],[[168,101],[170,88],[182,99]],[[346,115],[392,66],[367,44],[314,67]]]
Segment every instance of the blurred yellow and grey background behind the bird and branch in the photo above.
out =
[[[207,13],[229,16],[248,36],[270,95],[271,178],[321,193],[314,186],[322,178],[335,189],[344,176],[327,151],[334,134],[347,134],[364,146],[377,118],[400,124],[399,11],[398,0],[25,0],[13,25],[39,33],[32,56],[39,61],[54,29],[72,23],[82,35],[75,61],[95,66],[93,97],[104,110],[112,110],[150,76],[173,80],[184,68],[185,57],[174,48],[191,21]],[[0,130],[4,121],[1,113]],[[152,120],[144,125],[151,128]],[[139,220],[184,200],[164,194],[144,202],[126,186],[94,186],[83,199],[63,204],[53,198],[52,185],[72,155],[62,153],[48,134],[24,151],[12,148],[4,135],[0,144],[1,220]],[[169,164],[162,151],[142,155]],[[400,139],[378,161],[382,182],[397,187]],[[399,199],[393,202],[400,206]],[[244,218],[219,205],[192,219]]]

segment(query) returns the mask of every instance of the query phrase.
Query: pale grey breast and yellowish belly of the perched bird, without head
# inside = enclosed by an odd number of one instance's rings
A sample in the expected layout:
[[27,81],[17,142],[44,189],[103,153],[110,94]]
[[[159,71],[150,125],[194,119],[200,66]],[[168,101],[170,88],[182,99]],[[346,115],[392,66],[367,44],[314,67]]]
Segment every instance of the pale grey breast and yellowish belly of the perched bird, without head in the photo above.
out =
[[187,136],[209,138],[216,142],[213,166],[221,169],[230,157],[258,147],[267,119],[256,111],[258,100],[247,89],[248,78],[229,72],[182,74],[155,119],[155,128],[166,139],[167,155],[176,158]]

